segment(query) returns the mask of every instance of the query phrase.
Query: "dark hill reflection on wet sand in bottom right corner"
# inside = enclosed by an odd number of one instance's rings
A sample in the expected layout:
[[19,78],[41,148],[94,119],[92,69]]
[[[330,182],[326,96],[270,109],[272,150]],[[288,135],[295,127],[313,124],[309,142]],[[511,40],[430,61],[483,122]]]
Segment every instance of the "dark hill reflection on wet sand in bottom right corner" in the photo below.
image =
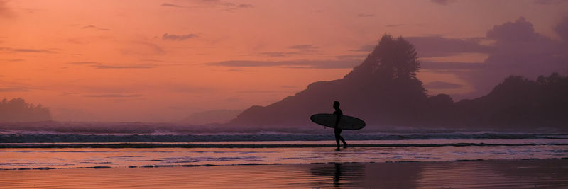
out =
[[568,185],[565,159],[431,162],[422,167],[418,185],[423,187],[557,188]]

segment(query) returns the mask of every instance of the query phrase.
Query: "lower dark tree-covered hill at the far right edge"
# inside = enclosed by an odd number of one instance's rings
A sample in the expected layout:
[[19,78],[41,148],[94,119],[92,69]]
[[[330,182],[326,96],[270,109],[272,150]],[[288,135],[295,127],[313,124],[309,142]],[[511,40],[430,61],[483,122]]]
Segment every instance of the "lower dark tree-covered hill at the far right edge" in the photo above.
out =
[[509,76],[486,96],[454,103],[448,115],[470,127],[567,127],[568,76]]

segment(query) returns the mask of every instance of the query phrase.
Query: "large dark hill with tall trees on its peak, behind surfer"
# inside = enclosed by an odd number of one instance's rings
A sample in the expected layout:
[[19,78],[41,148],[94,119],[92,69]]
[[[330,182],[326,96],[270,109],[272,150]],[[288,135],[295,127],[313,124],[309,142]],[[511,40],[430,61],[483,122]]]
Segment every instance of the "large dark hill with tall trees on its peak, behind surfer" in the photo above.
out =
[[306,125],[314,113],[331,113],[333,101],[347,115],[368,124],[414,125],[427,104],[416,78],[420,68],[413,45],[384,35],[375,50],[343,79],[317,81],[266,107],[253,106],[231,120],[234,125]]

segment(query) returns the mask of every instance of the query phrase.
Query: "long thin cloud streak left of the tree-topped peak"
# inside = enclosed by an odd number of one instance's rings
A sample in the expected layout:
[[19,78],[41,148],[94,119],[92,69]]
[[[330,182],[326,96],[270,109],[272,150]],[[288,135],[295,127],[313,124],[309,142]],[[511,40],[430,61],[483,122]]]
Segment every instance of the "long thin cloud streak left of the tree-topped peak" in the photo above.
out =
[[207,63],[210,66],[224,67],[288,67],[288,68],[315,68],[315,69],[347,69],[353,68],[360,61],[354,60],[291,60],[291,61],[253,61],[229,60],[224,62]]

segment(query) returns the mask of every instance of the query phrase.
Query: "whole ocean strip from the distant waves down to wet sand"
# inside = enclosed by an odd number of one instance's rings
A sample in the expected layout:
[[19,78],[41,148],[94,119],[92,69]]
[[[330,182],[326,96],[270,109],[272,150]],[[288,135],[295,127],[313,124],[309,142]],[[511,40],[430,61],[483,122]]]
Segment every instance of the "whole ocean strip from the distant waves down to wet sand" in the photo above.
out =
[[270,164],[568,159],[561,132],[332,130],[139,134],[2,130],[0,169],[148,168]]

